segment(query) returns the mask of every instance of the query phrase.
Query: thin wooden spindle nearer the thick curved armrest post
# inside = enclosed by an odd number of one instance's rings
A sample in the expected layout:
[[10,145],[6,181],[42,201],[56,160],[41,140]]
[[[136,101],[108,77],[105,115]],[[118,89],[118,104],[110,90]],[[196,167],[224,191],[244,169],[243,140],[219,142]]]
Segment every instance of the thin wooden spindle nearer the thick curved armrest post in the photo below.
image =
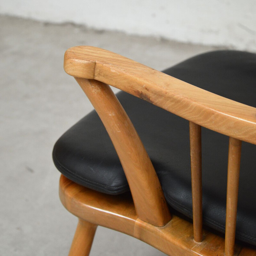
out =
[[201,126],[189,122],[194,240],[203,240]]

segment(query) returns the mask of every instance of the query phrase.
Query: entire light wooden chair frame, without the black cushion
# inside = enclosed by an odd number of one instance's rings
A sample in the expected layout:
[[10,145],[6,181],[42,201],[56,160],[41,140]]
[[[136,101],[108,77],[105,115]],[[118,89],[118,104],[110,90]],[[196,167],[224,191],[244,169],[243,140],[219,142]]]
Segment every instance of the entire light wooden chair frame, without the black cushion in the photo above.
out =
[[[241,140],[256,144],[256,108],[96,47],[68,49],[64,69],[75,77],[100,116],[131,189],[131,194],[110,196],[61,175],[61,202],[79,218],[70,256],[89,255],[97,225],[134,236],[173,256],[256,255],[255,249],[235,245]],[[189,121],[193,224],[171,217],[148,154],[107,84]],[[225,239],[202,228],[201,126],[230,137]]]

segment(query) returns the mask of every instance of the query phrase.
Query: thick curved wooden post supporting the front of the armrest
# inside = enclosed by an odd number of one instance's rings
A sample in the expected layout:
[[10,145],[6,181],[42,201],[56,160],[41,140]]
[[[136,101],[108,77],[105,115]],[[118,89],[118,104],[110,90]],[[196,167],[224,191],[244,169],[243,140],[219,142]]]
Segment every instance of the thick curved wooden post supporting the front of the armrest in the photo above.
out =
[[123,166],[141,220],[164,226],[171,215],[151,160],[109,85],[76,78],[104,124]]

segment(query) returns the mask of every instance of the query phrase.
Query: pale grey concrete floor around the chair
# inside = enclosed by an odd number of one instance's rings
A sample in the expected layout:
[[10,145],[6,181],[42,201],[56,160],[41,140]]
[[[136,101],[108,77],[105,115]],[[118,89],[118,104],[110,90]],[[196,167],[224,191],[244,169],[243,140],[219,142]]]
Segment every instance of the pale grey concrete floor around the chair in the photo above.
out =
[[[58,198],[52,147],[92,106],[63,70],[65,50],[93,45],[161,70],[214,48],[7,16],[0,24],[0,255],[68,255],[77,219]],[[91,256],[103,254],[164,255],[99,227]]]

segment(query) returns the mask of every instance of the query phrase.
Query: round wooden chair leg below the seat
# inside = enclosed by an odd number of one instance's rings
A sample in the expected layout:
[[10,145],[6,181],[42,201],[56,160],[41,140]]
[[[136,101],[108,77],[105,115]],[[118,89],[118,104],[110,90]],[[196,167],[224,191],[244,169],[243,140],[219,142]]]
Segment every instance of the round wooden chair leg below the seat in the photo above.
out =
[[76,233],[68,256],[88,256],[97,225],[78,219]]

